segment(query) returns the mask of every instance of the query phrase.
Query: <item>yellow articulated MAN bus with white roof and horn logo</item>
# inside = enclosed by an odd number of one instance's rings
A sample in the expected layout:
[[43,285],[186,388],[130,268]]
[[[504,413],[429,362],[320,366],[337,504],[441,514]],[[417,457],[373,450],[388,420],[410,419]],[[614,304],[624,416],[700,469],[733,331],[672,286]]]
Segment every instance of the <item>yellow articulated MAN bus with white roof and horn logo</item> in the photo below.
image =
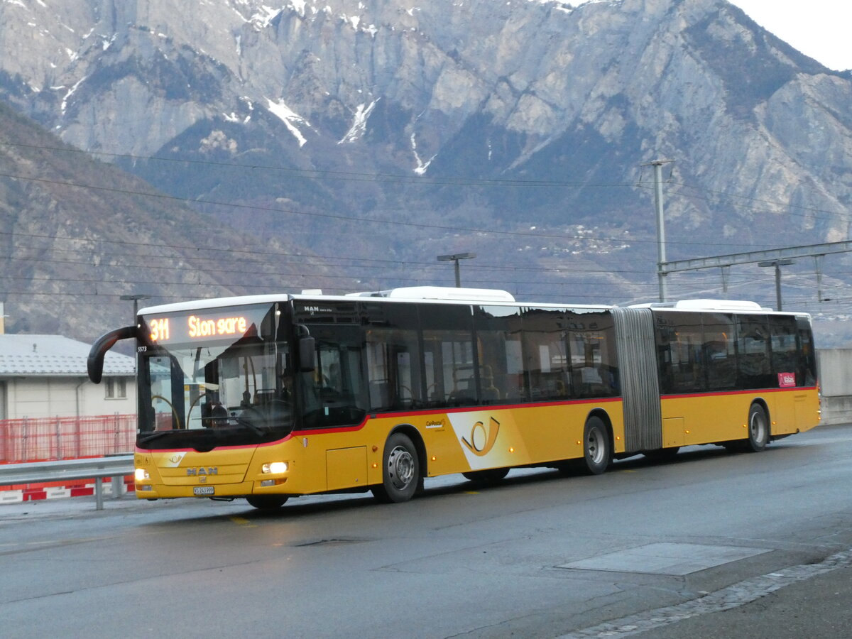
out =
[[403,502],[423,479],[514,467],[591,474],[681,446],[760,451],[820,420],[809,316],[753,302],[516,302],[412,287],[143,308],[136,495],[321,492]]

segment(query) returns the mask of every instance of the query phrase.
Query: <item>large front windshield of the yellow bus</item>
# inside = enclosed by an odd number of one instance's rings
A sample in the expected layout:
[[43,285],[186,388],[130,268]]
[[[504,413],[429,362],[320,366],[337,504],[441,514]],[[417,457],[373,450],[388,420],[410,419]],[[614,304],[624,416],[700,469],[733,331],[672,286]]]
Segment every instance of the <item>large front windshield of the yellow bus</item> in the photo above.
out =
[[[157,327],[165,320],[174,332],[185,318],[156,318],[149,324]],[[212,321],[194,315],[189,320]],[[228,337],[214,334],[173,344],[161,335],[142,349],[139,447],[211,450],[279,440],[291,432],[288,344],[274,339],[268,317],[258,320],[245,320],[242,330]],[[151,335],[158,337],[156,330]]]

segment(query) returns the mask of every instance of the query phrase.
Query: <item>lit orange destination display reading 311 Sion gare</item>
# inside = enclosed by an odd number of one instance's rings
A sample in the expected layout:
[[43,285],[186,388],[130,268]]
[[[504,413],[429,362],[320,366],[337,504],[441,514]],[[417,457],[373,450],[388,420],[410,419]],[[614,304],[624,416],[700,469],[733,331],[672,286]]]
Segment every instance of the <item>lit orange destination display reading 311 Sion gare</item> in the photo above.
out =
[[243,337],[257,331],[268,306],[234,307],[152,315],[143,318],[148,337],[154,343],[186,343],[202,339]]

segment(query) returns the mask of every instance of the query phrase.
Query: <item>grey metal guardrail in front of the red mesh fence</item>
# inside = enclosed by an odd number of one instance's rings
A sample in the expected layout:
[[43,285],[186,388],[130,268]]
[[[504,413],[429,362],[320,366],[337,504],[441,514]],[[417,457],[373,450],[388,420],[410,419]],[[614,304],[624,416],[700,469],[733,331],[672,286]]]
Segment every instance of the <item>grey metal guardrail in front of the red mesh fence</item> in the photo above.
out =
[[[0,486],[94,479],[95,509],[102,510],[104,507],[104,477],[124,478],[125,475],[133,475],[133,472],[133,455],[67,459],[58,462],[3,463],[0,464]],[[113,481],[115,480],[113,479]],[[115,483],[114,486],[119,486],[119,484]],[[115,493],[113,493],[113,496],[118,497]]]

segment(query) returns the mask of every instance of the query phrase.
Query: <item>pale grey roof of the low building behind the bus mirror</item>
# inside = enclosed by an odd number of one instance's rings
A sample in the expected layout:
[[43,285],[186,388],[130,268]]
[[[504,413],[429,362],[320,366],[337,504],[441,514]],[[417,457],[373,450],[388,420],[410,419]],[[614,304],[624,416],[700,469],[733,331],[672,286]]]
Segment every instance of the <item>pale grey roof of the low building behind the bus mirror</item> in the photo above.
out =
[[[89,344],[60,335],[0,335],[0,377],[86,377]],[[135,374],[135,360],[107,353],[104,376]]]

